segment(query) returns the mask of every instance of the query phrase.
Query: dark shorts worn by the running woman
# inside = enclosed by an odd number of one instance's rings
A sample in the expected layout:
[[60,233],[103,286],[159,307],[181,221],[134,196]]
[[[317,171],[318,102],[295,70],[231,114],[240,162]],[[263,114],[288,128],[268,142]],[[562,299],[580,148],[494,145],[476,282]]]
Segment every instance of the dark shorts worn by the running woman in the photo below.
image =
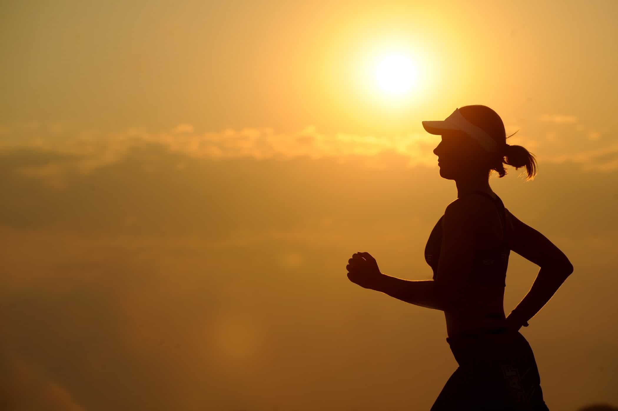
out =
[[446,339],[459,364],[431,411],[549,411],[528,341],[494,329]]

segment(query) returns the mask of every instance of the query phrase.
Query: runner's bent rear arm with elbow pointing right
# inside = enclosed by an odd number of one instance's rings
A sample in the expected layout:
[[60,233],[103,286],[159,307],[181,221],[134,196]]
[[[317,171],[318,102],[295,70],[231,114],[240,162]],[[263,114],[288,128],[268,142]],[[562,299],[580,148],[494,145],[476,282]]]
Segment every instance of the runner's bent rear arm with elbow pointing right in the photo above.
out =
[[573,265],[569,258],[543,234],[519,221],[513,214],[510,214],[510,219],[513,227],[510,249],[540,266],[530,291],[509,315],[509,320],[525,324],[556,293],[573,272]]

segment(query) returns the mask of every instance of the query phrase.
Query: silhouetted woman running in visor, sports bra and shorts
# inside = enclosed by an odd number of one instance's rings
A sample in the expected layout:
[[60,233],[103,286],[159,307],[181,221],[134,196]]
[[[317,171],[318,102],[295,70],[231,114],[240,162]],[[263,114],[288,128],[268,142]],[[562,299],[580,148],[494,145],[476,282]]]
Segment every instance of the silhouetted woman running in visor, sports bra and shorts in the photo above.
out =
[[[423,121],[441,135],[434,149],[440,176],[455,180],[457,199],[431,231],[425,260],[433,280],[408,281],[380,273],[366,252],[352,255],[350,281],[421,307],[444,311],[447,339],[459,367],[431,411],[548,410],[530,345],[522,326],[548,302],[573,266],[543,234],[504,208],[489,187],[502,163],[536,174],[533,155],[506,143],[502,119],[491,108],[464,106],[444,121]],[[510,137],[510,136],[509,136]],[[504,314],[510,250],[540,266],[530,291]]]

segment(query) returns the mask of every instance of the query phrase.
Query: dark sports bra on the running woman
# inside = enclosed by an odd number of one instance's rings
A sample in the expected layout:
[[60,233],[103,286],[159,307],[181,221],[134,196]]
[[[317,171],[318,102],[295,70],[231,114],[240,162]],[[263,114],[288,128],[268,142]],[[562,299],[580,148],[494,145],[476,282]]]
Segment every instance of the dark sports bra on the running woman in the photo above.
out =
[[[482,191],[474,191],[472,193],[485,195],[491,198],[496,205],[502,222],[502,242],[499,242],[493,248],[475,250],[473,269],[469,281],[478,282],[486,286],[505,287],[506,270],[509,265],[510,255],[506,234],[506,208],[504,208],[504,203],[502,203],[500,197],[496,196],[497,198],[493,198],[488,193]],[[438,261],[442,243],[442,218],[444,218],[444,215],[436,222],[425,245],[425,261],[433,270],[434,280],[438,273]]]

